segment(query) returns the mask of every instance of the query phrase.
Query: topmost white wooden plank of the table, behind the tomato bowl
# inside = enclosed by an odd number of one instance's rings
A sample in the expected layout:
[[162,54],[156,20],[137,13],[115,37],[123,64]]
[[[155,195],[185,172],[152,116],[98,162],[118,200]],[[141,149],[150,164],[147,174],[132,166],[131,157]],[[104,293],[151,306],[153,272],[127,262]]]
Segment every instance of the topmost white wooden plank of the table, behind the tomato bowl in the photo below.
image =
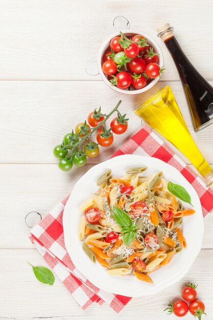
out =
[[[165,22],[185,54],[208,80],[213,80],[213,2],[210,0],[1,0],[0,79],[100,80],[85,71],[96,60],[103,40],[114,33],[113,19],[126,16],[132,29],[150,34],[163,50],[167,70],[162,80],[178,80],[172,58],[157,38]],[[209,28],[207,25],[209,21]],[[201,58],[202,49],[207,56]]]

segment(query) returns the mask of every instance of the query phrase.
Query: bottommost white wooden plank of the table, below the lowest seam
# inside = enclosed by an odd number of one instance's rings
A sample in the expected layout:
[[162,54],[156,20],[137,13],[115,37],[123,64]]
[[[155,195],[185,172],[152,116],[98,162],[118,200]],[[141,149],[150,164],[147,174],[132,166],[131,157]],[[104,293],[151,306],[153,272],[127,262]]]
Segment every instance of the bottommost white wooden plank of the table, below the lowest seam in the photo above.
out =
[[[93,304],[83,311],[72,295],[56,278],[53,286],[44,285],[37,281],[32,268],[27,261],[34,265],[47,266],[43,258],[34,250],[0,250],[0,293],[1,317],[17,317],[32,319],[34,317],[70,316],[66,319],[129,319],[141,317],[146,314],[146,320],[165,319],[167,316],[163,309],[169,299],[180,298],[179,292],[185,283],[195,282],[199,284],[199,298],[205,302],[206,312],[211,319],[213,314],[212,285],[213,285],[213,250],[201,250],[193,266],[187,275],[178,283],[155,294],[143,298],[134,298],[124,310],[116,314],[106,304],[98,306]],[[15,262],[15,263],[14,263]],[[32,316],[33,315],[33,316]],[[175,318],[175,317],[174,317]],[[57,320],[62,320],[57,319]],[[173,316],[171,316],[173,319]],[[184,319],[192,319],[187,315]]]

